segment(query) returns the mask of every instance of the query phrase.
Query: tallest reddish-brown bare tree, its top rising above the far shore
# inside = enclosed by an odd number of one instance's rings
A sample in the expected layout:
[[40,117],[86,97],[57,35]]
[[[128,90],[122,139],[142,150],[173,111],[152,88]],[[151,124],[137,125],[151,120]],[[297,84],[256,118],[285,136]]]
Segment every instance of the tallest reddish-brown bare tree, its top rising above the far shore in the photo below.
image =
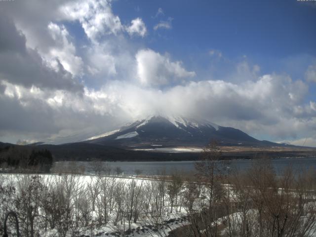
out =
[[[217,141],[210,142],[202,151],[201,161],[196,162],[198,182],[203,184],[200,190],[198,211],[193,208],[193,195],[197,193],[193,184],[188,185],[185,193],[189,218],[192,223],[192,233],[201,236],[203,230],[206,237],[218,235],[217,219],[223,215],[222,200],[224,189],[222,182],[225,180],[227,164],[220,161],[221,150]],[[192,187],[193,186],[193,187]],[[189,205],[188,205],[189,204]]]

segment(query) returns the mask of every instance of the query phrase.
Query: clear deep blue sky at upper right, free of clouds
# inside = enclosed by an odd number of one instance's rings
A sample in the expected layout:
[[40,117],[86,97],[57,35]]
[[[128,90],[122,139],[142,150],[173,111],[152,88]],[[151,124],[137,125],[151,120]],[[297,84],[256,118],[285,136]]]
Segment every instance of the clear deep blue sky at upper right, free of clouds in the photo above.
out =
[[[146,45],[175,56],[190,57],[217,49],[229,58],[247,55],[257,63],[316,54],[316,6],[283,1],[130,1],[113,2],[122,22],[142,16],[152,35]],[[157,17],[157,9],[164,14]],[[134,10],[133,10],[134,9]],[[154,32],[172,20],[172,31]],[[160,35],[160,36],[159,36]],[[280,70],[267,65],[267,70]]]

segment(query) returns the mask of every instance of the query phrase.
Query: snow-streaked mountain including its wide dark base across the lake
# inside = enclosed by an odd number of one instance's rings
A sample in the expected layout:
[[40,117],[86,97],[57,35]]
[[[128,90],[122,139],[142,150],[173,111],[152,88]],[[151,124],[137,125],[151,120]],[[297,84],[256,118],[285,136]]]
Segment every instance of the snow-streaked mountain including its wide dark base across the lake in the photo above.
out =
[[[81,142],[29,144],[47,149],[55,160],[109,161],[197,160],[210,141],[217,140],[223,158],[313,156],[315,149],[257,140],[233,128],[205,120],[150,116]],[[1,147],[18,146],[0,143]]]

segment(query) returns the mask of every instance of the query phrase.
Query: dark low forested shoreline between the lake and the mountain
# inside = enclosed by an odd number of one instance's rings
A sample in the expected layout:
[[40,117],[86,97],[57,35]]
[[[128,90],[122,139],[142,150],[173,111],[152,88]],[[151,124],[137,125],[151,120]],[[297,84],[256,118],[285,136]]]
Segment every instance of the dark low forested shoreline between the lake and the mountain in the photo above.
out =
[[[250,151],[222,153],[221,159],[315,157],[315,151]],[[199,160],[200,153],[133,151],[89,143],[15,145],[0,142],[0,170],[49,172],[55,161],[183,161]]]

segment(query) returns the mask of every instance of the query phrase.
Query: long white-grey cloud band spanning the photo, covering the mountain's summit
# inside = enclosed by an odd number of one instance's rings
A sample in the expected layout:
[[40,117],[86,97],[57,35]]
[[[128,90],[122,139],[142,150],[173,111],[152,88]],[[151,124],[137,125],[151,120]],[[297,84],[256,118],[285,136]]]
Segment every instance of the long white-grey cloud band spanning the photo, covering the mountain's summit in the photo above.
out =
[[[313,137],[315,102],[304,105],[302,99],[307,86],[301,83],[284,76],[265,75],[243,83],[191,81],[160,90],[127,81],[108,81],[100,89],[85,87],[83,95],[78,95],[2,81],[4,92],[0,94],[0,106],[10,109],[5,116],[0,116],[0,137],[4,130],[14,134],[16,129],[22,134],[36,131],[39,133],[33,134],[36,140],[45,135],[54,138],[78,133],[92,136],[100,129],[110,130],[124,121],[158,113],[209,119],[254,136]],[[299,115],[296,108],[300,108]]]

